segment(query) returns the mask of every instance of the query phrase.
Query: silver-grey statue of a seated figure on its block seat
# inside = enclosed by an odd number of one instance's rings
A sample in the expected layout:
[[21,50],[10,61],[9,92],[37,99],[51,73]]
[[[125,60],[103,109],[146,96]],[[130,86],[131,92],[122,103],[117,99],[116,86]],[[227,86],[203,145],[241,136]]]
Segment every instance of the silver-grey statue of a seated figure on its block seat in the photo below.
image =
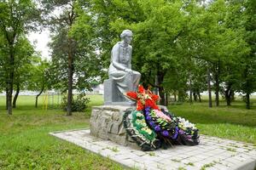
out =
[[[120,35],[121,41],[117,42],[111,51],[111,64],[108,69],[109,79],[104,82],[105,105],[131,104],[131,100],[125,97],[128,91],[136,91],[141,74],[131,70],[131,40],[132,32],[124,30]],[[110,87],[113,87],[110,90]],[[111,93],[111,94],[110,94]],[[129,105],[129,104],[128,104]]]

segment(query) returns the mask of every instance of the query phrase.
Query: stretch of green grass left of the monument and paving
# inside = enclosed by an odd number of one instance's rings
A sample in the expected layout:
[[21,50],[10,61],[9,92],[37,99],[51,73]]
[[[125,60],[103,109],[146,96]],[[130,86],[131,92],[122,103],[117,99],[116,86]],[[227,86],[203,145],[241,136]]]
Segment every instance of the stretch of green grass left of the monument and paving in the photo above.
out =
[[[89,127],[88,111],[65,116],[57,109],[33,106],[31,96],[20,96],[13,116],[3,110],[0,97],[0,169],[123,169],[119,164],[49,135],[49,132]],[[102,104],[93,96],[92,105]]]

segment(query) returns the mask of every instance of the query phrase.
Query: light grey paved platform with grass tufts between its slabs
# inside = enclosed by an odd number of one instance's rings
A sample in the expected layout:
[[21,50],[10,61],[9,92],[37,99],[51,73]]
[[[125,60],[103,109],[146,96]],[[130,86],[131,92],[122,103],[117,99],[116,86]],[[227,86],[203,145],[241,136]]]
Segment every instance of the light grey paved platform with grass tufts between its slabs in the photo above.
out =
[[96,139],[90,130],[50,133],[127,167],[137,169],[239,169],[256,167],[256,147],[252,144],[201,135],[201,144],[177,145],[168,150],[143,152],[111,141]]

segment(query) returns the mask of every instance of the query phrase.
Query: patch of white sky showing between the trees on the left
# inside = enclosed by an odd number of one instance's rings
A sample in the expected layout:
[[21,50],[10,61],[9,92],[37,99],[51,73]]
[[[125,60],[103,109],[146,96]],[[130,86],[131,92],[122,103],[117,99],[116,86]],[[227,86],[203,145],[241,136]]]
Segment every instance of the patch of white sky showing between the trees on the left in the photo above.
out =
[[30,32],[28,34],[28,39],[34,46],[36,50],[42,54],[43,59],[50,59],[48,42],[50,41],[49,30],[44,29],[41,32]]

